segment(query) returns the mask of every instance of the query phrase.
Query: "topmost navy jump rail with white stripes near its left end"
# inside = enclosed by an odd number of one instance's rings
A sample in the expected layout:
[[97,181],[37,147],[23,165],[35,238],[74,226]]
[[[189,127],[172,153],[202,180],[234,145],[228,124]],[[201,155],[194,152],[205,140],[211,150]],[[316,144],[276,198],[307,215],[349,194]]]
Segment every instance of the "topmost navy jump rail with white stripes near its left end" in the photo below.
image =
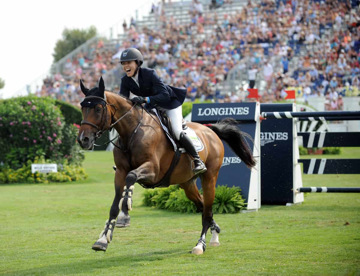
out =
[[360,120],[360,111],[324,111],[324,112],[262,112],[263,118],[276,118],[276,119],[292,119],[292,118],[307,118],[311,121],[311,118],[320,117],[358,117]]

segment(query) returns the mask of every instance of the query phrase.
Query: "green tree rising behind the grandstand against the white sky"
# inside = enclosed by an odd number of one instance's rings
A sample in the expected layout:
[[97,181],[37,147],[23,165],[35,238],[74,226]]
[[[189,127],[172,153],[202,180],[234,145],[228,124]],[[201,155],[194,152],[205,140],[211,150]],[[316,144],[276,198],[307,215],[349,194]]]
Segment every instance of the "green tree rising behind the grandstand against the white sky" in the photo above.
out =
[[91,39],[97,34],[95,26],[90,26],[88,29],[68,29],[65,28],[62,33],[62,39],[59,39],[54,48],[54,62],[62,59],[71,51],[75,50],[78,46]]

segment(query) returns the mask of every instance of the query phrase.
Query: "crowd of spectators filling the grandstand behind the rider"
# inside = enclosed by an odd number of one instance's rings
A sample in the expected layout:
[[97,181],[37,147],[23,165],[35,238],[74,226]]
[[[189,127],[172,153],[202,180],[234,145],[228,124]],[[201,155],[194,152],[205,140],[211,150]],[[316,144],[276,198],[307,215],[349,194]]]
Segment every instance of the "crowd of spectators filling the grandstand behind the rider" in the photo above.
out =
[[[261,101],[281,99],[294,89],[305,99],[325,96],[326,108],[336,110],[343,96],[359,95],[359,1],[248,1],[243,9],[219,16],[225,5],[231,1],[211,1],[211,9],[205,9],[201,0],[192,0],[191,21],[180,24],[167,16],[164,3],[154,4],[157,27],[140,28],[134,18],[128,27],[124,21],[126,39],[115,51],[99,40],[36,92],[76,105],[83,98],[80,78],[96,86],[100,75],[119,65],[123,49],[136,47],[165,83],[187,89],[189,101],[243,101],[247,87],[260,88],[259,79],[265,83]],[[249,83],[224,95],[221,89],[235,65]]]

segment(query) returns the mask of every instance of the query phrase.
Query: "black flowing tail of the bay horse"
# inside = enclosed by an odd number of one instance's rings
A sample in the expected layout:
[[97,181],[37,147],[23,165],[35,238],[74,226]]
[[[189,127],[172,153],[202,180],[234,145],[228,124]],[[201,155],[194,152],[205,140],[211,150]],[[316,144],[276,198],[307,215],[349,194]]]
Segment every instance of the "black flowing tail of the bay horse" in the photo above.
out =
[[253,139],[247,133],[239,130],[235,119],[225,118],[215,124],[206,126],[211,128],[221,140],[224,140],[248,168],[251,169],[256,165],[256,160],[252,156],[252,151],[245,137],[252,141]]

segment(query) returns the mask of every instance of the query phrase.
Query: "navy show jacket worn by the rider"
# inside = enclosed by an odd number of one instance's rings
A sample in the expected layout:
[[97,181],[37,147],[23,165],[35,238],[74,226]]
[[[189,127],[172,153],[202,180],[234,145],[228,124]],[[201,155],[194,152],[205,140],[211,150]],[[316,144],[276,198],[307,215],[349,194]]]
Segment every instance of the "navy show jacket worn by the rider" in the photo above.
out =
[[136,96],[149,97],[150,103],[145,105],[152,109],[157,105],[165,109],[174,109],[184,103],[186,89],[163,83],[154,69],[139,68],[139,86],[126,74],[121,78],[120,94],[129,98],[130,91]]

